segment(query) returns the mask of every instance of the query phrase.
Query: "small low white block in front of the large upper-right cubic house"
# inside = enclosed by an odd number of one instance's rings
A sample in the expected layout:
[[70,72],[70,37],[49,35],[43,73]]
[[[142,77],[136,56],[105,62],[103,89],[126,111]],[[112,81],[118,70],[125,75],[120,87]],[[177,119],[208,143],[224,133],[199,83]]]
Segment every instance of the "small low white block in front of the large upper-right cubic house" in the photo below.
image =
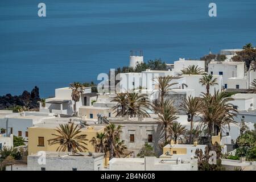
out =
[[227,82],[228,89],[248,89],[249,82],[247,77],[231,77]]

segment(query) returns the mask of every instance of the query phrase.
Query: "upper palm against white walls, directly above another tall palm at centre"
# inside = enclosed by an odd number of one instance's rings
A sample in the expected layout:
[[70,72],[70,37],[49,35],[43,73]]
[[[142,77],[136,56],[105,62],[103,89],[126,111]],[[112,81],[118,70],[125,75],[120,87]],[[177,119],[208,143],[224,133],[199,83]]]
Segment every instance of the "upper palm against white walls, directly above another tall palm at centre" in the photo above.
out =
[[177,82],[170,83],[174,79],[173,76],[160,76],[156,79],[159,87],[160,103],[164,103],[164,96],[167,96],[171,91],[171,86],[176,85]]

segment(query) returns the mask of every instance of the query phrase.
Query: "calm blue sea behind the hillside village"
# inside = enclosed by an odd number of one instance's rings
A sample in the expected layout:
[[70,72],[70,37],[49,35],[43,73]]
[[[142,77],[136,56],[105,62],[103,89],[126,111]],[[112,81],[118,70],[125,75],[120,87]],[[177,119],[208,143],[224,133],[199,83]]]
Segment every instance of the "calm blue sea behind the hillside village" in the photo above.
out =
[[255,0],[1,0],[0,95],[37,85],[48,97],[73,81],[97,81],[128,65],[131,49],[173,63],[249,42],[256,44]]

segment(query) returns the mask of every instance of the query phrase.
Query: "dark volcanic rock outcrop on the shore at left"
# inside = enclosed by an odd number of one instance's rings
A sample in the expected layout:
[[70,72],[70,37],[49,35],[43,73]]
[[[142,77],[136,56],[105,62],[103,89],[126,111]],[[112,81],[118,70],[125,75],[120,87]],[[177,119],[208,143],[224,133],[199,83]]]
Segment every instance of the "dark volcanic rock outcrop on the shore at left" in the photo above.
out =
[[14,106],[25,106],[35,109],[39,107],[38,101],[40,101],[39,88],[35,86],[31,92],[24,90],[20,96],[11,96],[11,94],[0,96],[0,109],[8,109]]

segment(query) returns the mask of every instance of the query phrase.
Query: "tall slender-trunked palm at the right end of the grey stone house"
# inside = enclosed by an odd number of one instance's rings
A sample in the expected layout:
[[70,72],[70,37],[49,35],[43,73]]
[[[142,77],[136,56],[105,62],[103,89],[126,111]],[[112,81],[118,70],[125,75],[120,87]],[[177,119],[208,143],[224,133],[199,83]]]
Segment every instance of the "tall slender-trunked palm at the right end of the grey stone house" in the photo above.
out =
[[[161,107],[162,106],[162,107]],[[172,125],[172,123],[178,118],[175,114],[178,113],[178,110],[175,106],[173,106],[173,101],[166,100],[163,104],[154,105],[154,110],[158,113],[158,121],[160,125],[163,127],[164,131],[164,142],[167,142],[167,132],[168,128]]]

